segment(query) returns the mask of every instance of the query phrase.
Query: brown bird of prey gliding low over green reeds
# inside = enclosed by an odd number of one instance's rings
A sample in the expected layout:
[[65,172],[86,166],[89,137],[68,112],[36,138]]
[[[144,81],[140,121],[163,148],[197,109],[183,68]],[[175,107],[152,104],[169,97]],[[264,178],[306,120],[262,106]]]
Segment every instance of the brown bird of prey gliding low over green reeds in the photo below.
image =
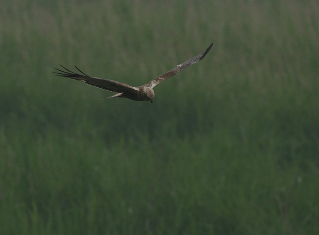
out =
[[107,91],[117,92],[117,94],[115,94],[111,97],[107,97],[106,99],[114,98],[114,97],[124,97],[124,98],[128,98],[128,99],[131,99],[134,101],[151,101],[151,103],[153,103],[153,99],[154,99],[153,88],[156,85],[158,85],[163,80],[176,75],[177,73],[186,69],[188,66],[195,64],[198,61],[200,61],[201,59],[203,59],[205,57],[205,55],[211,50],[212,46],[213,46],[213,43],[206,49],[205,52],[185,61],[182,64],[177,65],[177,67],[175,69],[172,69],[172,70],[160,75],[159,77],[154,78],[153,80],[151,80],[150,82],[148,82],[142,86],[134,87],[134,86],[130,86],[130,85],[124,84],[124,83],[119,82],[119,81],[114,81],[114,80],[110,80],[110,79],[103,79],[103,78],[94,78],[94,77],[91,77],[91,76],[84,74],[77,66],[75,66],[75,67],[80,73],[72,72],[71,70],[68,70],[67,68],[65,68],[62,65],[60,65],[60,66],[64,70],[54,68],[57,70],[57,72],[54,72],[54,73],[57,74],[56,76],[71,78],[74,80],[82,80],[91,86],[96,86],[96,87],[99,87],[99,88],[107,90]]

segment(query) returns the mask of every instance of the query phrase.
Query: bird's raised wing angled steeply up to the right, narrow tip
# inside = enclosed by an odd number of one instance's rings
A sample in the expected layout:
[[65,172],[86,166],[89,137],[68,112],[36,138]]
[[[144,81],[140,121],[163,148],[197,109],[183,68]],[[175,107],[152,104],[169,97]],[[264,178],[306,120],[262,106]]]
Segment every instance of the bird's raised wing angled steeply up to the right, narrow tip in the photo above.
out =
[[163,80],[170,78],[170,77],[173,77],[177,73],[181,72],[183,69],[186,69],[188,66],[197,63],[198,61],[200,61],[201,59],[203,59],[205,57],[205,55],[211,50],[212,46],[213,46],[213,43],[206,49],[205,52],[185,61],[182,64],[177,65],[177,67],[175,69],[172,69],[172,70],[166,72],[165,74],[162,74],[157,78],[154,78],[150,82],[146,83],[144,86],[149,86],[149,87],[153,88],[154,86],[158,85]]

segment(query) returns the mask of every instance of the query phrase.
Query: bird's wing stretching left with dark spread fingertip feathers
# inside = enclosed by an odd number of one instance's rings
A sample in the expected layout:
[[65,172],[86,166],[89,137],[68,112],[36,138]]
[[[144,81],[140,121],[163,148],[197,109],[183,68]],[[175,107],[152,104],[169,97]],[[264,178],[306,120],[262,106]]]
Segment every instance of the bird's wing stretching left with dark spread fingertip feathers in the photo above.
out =
[[58,72],[53,72],[55,74],[57,74],[57,76],[60,77],[64,77],[64,78],[71,78],[74,80],[82,80],[85,83],[91,85],[91,86],[96,86],[99,87],[101,89],[107,90],[107,91],[114,91],[114,92],[137,92],[138,88],[130,86],[128,84],[122,83],[122,82],[118,82],[118,81],[114,81],[114,80],[109,80],[109,79],[103,79],[103,78],[94,78],[94,77],[90,77],[86,74],[84,74],[82,71],[80,71],[80,69],[76,67],[76,69],[80,72],[80,74],[72,72],[71,70],[68,70],[67,68],[65,68],[64,66],[60,65],[63,70],[56,69]]

